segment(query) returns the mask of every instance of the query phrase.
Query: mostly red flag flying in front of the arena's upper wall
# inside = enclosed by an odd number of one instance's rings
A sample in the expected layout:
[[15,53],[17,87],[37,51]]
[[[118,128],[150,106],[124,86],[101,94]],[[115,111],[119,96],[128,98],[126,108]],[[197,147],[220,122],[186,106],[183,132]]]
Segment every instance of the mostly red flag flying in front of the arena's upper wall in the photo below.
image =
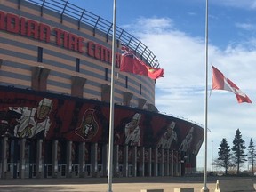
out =
[[122,47],[122,60],[120,71],[148,76],[151,79],[157,79],[164,76],[163,68],[151,68],[143,60],[140,60],[129,48]]

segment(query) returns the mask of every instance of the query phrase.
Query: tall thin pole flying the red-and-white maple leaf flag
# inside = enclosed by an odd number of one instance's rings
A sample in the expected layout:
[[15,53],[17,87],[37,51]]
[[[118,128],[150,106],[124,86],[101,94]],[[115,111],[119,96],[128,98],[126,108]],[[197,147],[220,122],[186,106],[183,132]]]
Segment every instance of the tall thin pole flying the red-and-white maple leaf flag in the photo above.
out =
[[204,98],[204,186],[201,192],[209,192],[207,182],[207,132],[208,132],[208,0],[205,7],[205,98]]

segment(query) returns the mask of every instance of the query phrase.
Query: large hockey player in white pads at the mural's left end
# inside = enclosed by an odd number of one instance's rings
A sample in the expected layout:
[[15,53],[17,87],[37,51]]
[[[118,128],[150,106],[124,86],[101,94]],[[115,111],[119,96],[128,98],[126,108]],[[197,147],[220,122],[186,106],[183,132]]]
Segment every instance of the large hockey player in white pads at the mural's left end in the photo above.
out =
[[19,138],[44,138],[50,129],[52,100],[40,100],[37,108],[9,107],[0,112],[0,134]]

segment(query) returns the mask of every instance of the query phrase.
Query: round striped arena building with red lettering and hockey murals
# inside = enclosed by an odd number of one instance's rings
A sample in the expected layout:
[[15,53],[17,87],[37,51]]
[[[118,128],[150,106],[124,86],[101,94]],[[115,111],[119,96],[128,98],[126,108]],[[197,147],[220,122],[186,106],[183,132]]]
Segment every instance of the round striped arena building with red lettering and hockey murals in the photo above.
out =
[[[1,178],[106,177],[112,23],[63,0],[1,0],[0,39]],[[114,177],[195,172],[204,129],[158,112],[156,80],[119,70],[121,43],[160,68],[116,27]]]

